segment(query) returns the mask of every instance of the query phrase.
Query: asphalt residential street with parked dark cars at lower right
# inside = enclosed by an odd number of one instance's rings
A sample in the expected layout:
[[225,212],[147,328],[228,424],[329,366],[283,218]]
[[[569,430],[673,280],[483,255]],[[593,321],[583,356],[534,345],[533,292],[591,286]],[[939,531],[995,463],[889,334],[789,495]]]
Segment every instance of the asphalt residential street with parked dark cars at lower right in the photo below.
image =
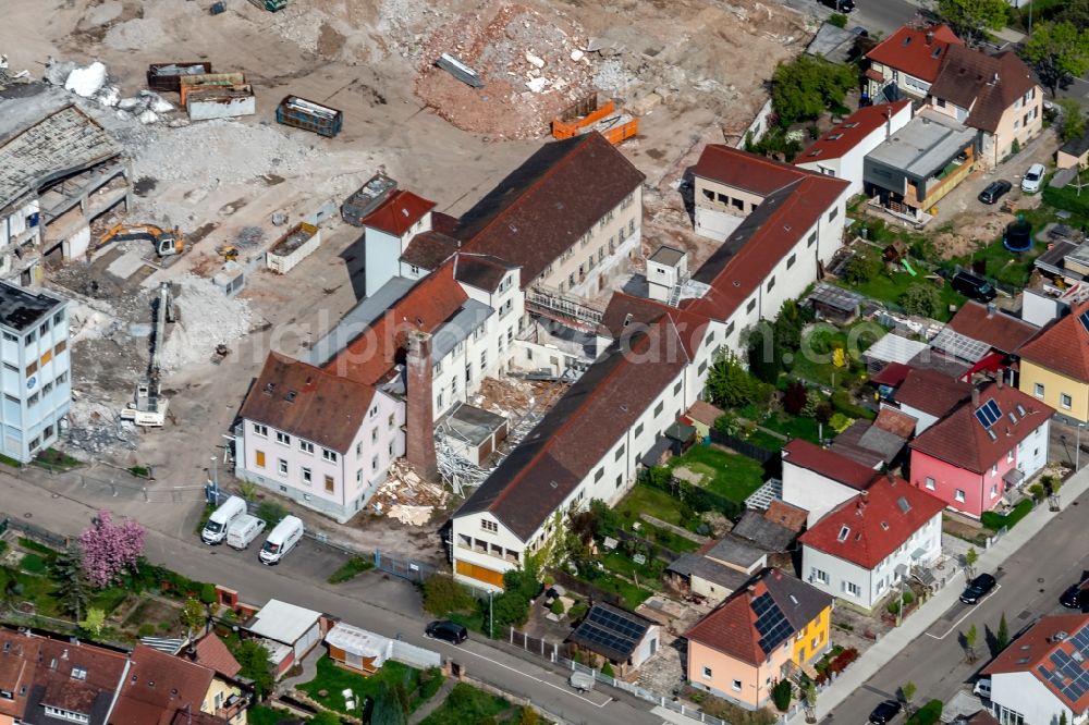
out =
[[[1020,551],[994,572],[999,587],[975,606],[957,602],[934,625],[888,665],[844,700],[825,722],[860,725],[882,700],[896,698],[904,683],[918,688],[915,702],[943,702],[969,683],[990,660],[989,641],[998,630],[1002,614],[1011,636],[1031,625],[1039,616],[1069,612],[1059,604],[1059,595],[1089,568],[1085,548],[1085,516],[1089,492],[1069,505]],[[956,583],[954,586],[960,586]],[[960,636],[975,624],[978,632],[976,664],[966,662]],[[901,714],[894,725],[903,722]]]

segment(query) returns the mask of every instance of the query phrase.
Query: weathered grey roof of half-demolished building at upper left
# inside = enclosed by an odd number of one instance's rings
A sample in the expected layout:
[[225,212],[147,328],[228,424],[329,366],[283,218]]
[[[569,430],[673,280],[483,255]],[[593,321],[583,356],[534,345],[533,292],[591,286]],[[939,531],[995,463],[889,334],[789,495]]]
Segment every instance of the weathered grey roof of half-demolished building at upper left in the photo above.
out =
[[0,209],[120,155],[121,146],[76,107],[50,113],[0,147]]

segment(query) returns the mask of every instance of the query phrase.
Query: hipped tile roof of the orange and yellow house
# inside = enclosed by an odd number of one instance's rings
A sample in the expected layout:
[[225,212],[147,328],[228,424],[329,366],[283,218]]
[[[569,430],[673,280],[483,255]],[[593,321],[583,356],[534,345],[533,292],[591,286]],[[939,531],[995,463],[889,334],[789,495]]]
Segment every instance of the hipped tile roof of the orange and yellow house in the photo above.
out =
[[832,605],[832,597],[819,589],[779,569],[766,569],[697,622],[684,636],[746,664],[763,664],[770,652],[761,647],[763,636],[756,628],[759,616],[752,610],[755,600],[763,594],[771,597],[788,625],[786,639],[778,642],[776,647],[790,641]]

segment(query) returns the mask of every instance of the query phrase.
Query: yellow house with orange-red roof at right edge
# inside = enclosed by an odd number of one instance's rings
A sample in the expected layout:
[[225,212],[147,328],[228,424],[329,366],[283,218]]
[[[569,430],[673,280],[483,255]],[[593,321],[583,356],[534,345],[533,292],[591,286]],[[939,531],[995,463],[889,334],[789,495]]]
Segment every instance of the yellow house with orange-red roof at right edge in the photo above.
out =
[[1044,328],[1017,354],[1023,393],[1070,422],[1089,422],[1089,303]]

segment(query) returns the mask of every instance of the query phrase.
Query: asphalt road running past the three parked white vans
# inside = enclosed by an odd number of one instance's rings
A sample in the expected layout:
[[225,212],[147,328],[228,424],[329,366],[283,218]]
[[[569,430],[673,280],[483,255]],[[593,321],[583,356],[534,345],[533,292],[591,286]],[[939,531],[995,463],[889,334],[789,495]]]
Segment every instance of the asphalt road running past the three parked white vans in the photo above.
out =
[[[2,472],[0,502],[0,508],[10,514],[69,536],[86,528],[94,515],[93,506]],[[423,634],[426,615],[409,586],[376,572],[347,583],[329,585],[326,578],[343,561],[343,555],[330,548],[305,542],[280,565],[267,567],[257,561],[258,542],[250,544],[248,551],[236,552],[227,546],[207,546],[195,533],[178,537],[149,529],[145,554],[149,561],[189,578],[235,589],[244,602],[261,604],[269,599],[281,599],[388,637],[401,635],[405,641],[454,660],[470,677],[528,699],[571,723],[662,722],[650,714],[647,703],[626,697],[613,700],[611,693],[601,691],[575,692],[562,676],[490,644],[473,641],[472,637],[456,648],[427,639]]]

